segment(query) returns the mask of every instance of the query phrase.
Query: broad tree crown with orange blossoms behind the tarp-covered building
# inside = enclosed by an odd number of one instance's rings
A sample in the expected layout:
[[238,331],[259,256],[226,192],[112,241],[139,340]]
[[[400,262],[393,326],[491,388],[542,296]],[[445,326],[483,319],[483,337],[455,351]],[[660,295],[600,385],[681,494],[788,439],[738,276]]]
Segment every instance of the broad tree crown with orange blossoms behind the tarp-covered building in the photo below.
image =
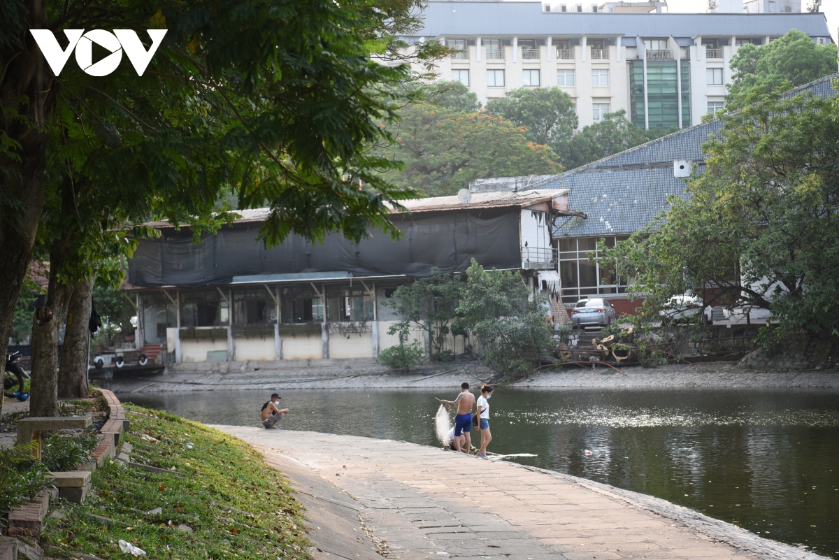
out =
[[555,153],[529,141],[524,127],[485,112],[466,113],[420,103],[400,112],[394,143],[375,153],[402,161],[383,175],[426,196],[455,194],[475,179],[560,173]]

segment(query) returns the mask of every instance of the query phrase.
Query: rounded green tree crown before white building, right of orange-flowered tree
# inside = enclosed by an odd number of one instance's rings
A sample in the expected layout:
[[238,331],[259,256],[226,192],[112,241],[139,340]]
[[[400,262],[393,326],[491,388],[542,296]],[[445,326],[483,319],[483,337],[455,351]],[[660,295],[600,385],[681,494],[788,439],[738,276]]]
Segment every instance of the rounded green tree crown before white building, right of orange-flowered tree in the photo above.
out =
[[487,102],[487,111],[527,128],[537,144],[559,146],[576,130],[576,103],[558,87],[522,87]]

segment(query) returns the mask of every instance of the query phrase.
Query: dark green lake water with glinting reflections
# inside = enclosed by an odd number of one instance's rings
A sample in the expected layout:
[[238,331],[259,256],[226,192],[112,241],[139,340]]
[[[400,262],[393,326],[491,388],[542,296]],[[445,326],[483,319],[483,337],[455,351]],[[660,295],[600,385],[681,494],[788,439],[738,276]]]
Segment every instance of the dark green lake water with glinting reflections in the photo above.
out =
[[[284,391],[291,413],[282,428],[439,445],[433,397],[457,392]],[[203,423],[258,425],[268,393],[121,397]],[[508,460],[654,495],[839,559],[837,397],[832,389],[502,388],[490,401],[489,451],[535,454]]]

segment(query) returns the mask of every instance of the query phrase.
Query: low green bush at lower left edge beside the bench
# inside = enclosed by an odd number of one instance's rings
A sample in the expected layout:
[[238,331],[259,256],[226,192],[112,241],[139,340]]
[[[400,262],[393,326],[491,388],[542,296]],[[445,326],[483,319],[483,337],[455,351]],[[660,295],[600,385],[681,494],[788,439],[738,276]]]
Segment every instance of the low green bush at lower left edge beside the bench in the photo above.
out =
[[18,445],[0,449],[0,527],[6,523],[3,519],[9,511],[23,502],[32,500],[44,489],[47,468],[32,459],[25,452],[34,449],[37,443]]

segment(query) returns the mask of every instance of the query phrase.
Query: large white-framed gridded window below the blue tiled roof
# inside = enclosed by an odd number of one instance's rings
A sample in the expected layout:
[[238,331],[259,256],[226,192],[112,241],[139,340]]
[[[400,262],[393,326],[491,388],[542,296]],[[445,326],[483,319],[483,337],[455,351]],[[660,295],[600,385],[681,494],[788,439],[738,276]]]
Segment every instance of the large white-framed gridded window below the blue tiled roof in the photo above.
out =
[[[603,237],[603,236],[600,236]],[[562,301],[576,303],[578,299],[592,295],[625,293],[627,283],[597,262],[588,259],[589,251],[597,251],[600,237],[571,237],[559,240],[560,278],[562,279]],[[615,241],[624,241],[628,236],[606,236],[606,246],[615,246]]]

